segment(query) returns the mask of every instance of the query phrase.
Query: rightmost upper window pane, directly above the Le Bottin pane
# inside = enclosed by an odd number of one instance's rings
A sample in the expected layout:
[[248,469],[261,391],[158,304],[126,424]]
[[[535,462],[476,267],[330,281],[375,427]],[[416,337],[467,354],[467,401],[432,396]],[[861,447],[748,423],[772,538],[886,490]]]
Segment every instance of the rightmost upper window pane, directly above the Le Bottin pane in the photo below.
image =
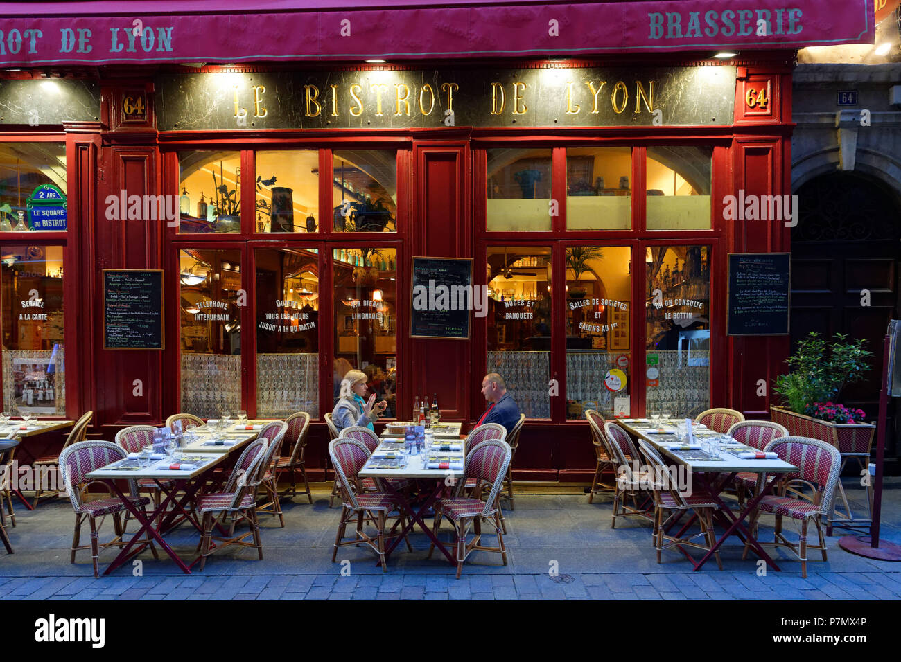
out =
[[713,149],[649,147],[648,230],[709,230]]

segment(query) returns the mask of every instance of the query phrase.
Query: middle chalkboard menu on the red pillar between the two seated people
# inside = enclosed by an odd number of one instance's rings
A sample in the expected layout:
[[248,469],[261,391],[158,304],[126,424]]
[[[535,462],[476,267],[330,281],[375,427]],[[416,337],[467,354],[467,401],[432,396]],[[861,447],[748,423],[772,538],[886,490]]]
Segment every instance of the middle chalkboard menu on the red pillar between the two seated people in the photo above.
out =
[[410,335],[468,340],[472,260],[413,258],[411,282]]

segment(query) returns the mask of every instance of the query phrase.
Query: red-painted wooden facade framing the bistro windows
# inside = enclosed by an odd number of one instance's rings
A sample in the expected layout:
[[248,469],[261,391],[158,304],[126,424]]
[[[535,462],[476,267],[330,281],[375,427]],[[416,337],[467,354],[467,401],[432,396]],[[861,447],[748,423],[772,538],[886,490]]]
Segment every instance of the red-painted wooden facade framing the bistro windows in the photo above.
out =
[[[635,67],[659,65],[696,65],[699,60],[683,56],[631,58]],[[253,249],[257,247],[306,246],[318,248],[320,287],[332,292],[332,271],[326,266],[329,249],[378,245],[397,249],[398,273],[410,272],[411,256],[474,258],[475,273],[486,269],[487,245],[551,246],[554,258],[562,263],[565,247],[585,243],[597,246],[639,247],[678,243],[705,244],[712,247],[711,304],[711,406],[729,406],[750,418],[765,418],[769,413],[769,385],[783,369],[787,356],[787,337],[727,337],[725,335],[726,255],[730,252],[784,252],[789,249],[789,230],[783,223],[765,221],[726,221],[725,195],[790,194],[791,70],[793,52],[762,52],[738,58],[735,89],[735,121],[714,127],[609,127],[596,129],[484,129],[449,127],[428,130],[369,131],[169,131],[155,128],[153,76],[155,68],[118,68],[99,78],[103,107],[99,122],[64,125],[59,131],[33,131],[28,126],[7,128],[2,141],[65,141],[68,164],[68,231],[29,233],[28,241],[62,242],[66,246],[66,347],[68,354],[67,414],[94,410],[89,436],[112,440],[123,426],[164,422],[178,411],[179,329],[177,307],[177,249],[196,245],[190,235],[177,235],[164,222],[143,220],[110,221],[105,217],[105,198],[127,190],[129,195],[178,195],[177,150],[241,150],[242,167],[252,172],[253,150],[322,149],[320,171],[329,172],[333,149],[396,148],[397,227],[396,234],[341,234],[325,231],[295,236],[266,237],[254,234],[252,213],[254,182],[242,177],[241,195],[244,231],[205,238],[217,247],[241,251],[241,272],[248,293],[245,329],[254,327],[255,273]],[[601,63],[616,63],[608,59]],[[618,63],[622,64],[623,61]],[[534,62],[505,63],[505,67],[535,66]],[[555,63],[560,64],[560,63]],[[747,104],[746,87],[769,86],[769,111],[760,113]],[[146,92],[148,120],[123,125],[118,121],[123,96],[135,89]],[[486,230],[486,152],[498,146],[542,146],[551,148],[552,197],[565,199],[565,149],[576,146],[617,146],[634,148],[632,181],[644,186],[645,149],[665,142],[669,145],[705,145],[713,156],[713,227],[696,231],[649,231],[637,225],[630,231],[566,231],[565,213],[553,219],[551,231],[524,233]],[[321,209],[331,208],[331,182],[321,177]],[[633,218],[643,219],[645,198],[632,198]],[[321,213],[321,219],[329,216]],[[327,223],[321,223],[327,226]],[[321,228],[322,230],[322,228]],[[22,242],[21,234],[0,234],[0,241]],[[328,242],[326,244],[326,241]],[[633,255],[636,253],[633,252]],[[633,264],[643,260],[633,259]],[[167,323],[164,351],[107,350],[102,338],[101,270],[104,268],[164,268],[167,272],[165,299]],[[552,287],[563,291],[565,272],[553,274]],[[632,301],[644,298],[643,272],[632,279]],[[409,328],[405,311],[410,308],[408,283],[399,281],[398,330]],[[565,316],[565,300],[552,302],[554,320]],[[329,319],[331,297],[321,298],[322,317]],[[631,325],[631,346],[643,348],[645,325],[640,307],[635,309]],[[412,405],[414,394],[437,393],[445,420],[472,422],[484,409],[479,393],[481,377],[487,367],[487,318],[473,318],[471,339],[410,339],[397,333],[398,403]],[[565,394],[566,338],[562,323],[554,327],[552,337],[551,378],[560,380]],[[254,369],[255,334],[244,334],[241,367],[244,379],[244,408],[255,415],[256,393],[251,373]],[[332,334],[320,336],[320,402],[323,412],[332,402]],[[638,358],[633,360],[640,360]],[[425,375],[429,375],[428,381]],[[435,378],[434,376],[440,376]],[[136,384],[140,380],[141,388]],[[760,396],[759,382],[768,385]],[[636,378],[632,391],[633,415],[644,413],[643,379]],[[586,482],[594,471],[594,451],[586,422],[566,420],[566,398],[551,398],[551,420],[530,421],[523,429],[516,455],[514,476],[519,480],[542,482]],[[404,409],[402,408],[402,412]],[[313,413],[314,425],[307,452],[311,479],[323,478],[327,431],[321,413]]]

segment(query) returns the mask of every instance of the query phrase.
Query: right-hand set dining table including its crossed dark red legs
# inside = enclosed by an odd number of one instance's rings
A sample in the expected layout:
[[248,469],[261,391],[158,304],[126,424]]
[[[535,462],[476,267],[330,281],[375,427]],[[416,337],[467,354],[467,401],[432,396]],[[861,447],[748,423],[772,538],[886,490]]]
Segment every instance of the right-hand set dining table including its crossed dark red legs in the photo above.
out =
[[[752,474],[788,474],[798,470],[798,467],[794,465],[788,464],[786,461],[773,458],[773,459],[742,459],[734,456],[732,453],[723,451],[720,453],[720,459],[709,459],[709,460],[689,460],[685,458],[681,458],[678,456],[674,450],[678,449],[669,449],[668,442],[679,441],[678,435],[675,431],[675,424],[680,420],[670,419],[669,421],[651,421],[649,419],[615,419],[616,424],[618,424],[623,430],[627,431],[629,434],[633,435],[633,437],[639,437],[643,440],[648,441],[651,445],[659,449],[664,455],[668,458],[671,458],[676,463],[688,467],[693,476],[697,476],[698,482],[702,487],[710,494],[710,496],[714,499],[714,502],[719,506],[719,510],[714,511],[714,519],[725,527],[725,531],[722,536],[714,543],[713,549],[707,551],[703,558],[700,561],[695,563],[692,560],[692,564],[695,566],[695,570],[699,570],[707,560],[714,556],[714,552],[720,547],[723,546],[723,543],[727,538],[732,535],[737,535],[739,539],[742,541],[747,541],[751,548],[757,553],[757,555],[766,561],[769,567],[772,567],[774,570],[779,570],[780,568],[776,565],[776,562],[770,558],[769,554],[762,547],[760,547],[760,543],[751,535],[751,531],[742,523],[745,518],[751,514],[751,511],[760,502],[764,496],[770,493],[773,486],[776,484],[776,480],[765,481],[764,485],[760,489],[760,494],[756,494],[752,497],[747,503],[745,503],[745,508],[736,515],[731,508],[729,508],[726,503],[724,503],[723,499],[720,498],[720,494],[722,494],[726,485],[729,485],[732,482],[733,478],[736,474],[741,472],[748,472]],[[649,432],[651,429],[660,429],[669,431],[669,434],[655,434]],[[726,437],[726,435],[719,435],[720,437]],[[702,438],[703,440],[703,438]],[[736,445],[740,445],[739,442],[734,442]],[[753,451],[756,449],[749,450]],[[694,517],[692,518],[694,520]],[[682,528],[682,531],[685,531],[687,527],[691,524],[689,520],[687,524]],[[681,533],[681,531],[680,531]],[[691,560],[689,558],[689,560]]]

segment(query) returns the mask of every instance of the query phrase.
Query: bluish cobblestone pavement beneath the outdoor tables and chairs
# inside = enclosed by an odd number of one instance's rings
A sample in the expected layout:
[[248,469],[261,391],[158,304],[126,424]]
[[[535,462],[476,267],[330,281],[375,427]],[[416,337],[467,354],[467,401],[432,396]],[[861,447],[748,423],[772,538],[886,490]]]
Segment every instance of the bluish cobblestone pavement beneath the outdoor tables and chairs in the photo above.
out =
[[[846,483],[858,497],[860,488]],[[860,490],[862,494],[862,490]],[[887,481],[882,538],[901,543],[901,480]],[[18,505],[18,503],[17,503]],[[253,549],[225,549],[211,557],[203,572],[179,572],[162,552],[147,551],[137,566],[119,568],[95,579],[88,551],[68,563],[74,515],[68,502],[41,503],[35,512],[16,511],[17,526],[7,528],[15,554],[0,550],[0,600],[881,600],[901,597],[901,563],[873,561],[838,547],[842,532],[828,538],[829,560],[811,554],[808,576],[800,563],[777,551],[782,572],[759,575],[756,559],[742,561],[734,540],[724,546],[724,570],[715,563],[691,572],[678,551],[664,551],[657,564],[650,525],[640,521],[610,528],[611,502],[573,494],[517,495],[515,511],[506,511],[508,564],[499,555],[474,552],[459,580],[436,557],[425,558],[427,539],[411,536],[414,551],[389,559],[387,573],[363,547],[343,548],[332,564],[338,507],[328,493],[314,491],[314,503],[285,503],[286,527],[262,521],[264,560]],[[760,540],[771,540],[771,521],[760,527]],[[132,522],[130,528],[135,524]],[[789,531],[792,524],[787,524]],[[105,522],[101,539],[112,531]],[[182,526],[167,540],[184,558],[192,558],[196,535]],[[450,540],[444,528],[442,537]],[[87,540],[88,534],[82,536]],[[487,539],[493,544],[495,538]],[[402,548],[403,549],[403,548]],[[752,555],[750,555],[752,557]],[[101,554],[101,570],[114,550]],[[781,559],[781,560],[780,560]],[[341,561],[344,561],[341,563]],[[341,574],[342,569],[344,575]]]

